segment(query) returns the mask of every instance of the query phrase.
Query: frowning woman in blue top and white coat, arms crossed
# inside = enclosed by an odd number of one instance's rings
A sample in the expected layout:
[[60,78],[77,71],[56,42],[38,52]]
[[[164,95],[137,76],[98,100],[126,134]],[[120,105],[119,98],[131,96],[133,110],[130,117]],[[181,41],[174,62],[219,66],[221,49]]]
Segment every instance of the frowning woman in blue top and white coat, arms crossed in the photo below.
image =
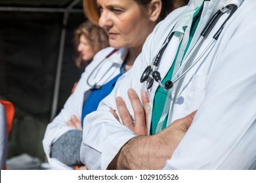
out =
[[53,169],[74,169],[76,165],[82,165],[79,150],[83,118],[96,110],[98,103],[112,91],[117,79],[121,81],[125,78],[126,71],[133,66],[156,24],[185,2],[83,1],[89,20],[105,29],[112,47],[95,55],[85,68],[75,92],[47,126],[43,148]]

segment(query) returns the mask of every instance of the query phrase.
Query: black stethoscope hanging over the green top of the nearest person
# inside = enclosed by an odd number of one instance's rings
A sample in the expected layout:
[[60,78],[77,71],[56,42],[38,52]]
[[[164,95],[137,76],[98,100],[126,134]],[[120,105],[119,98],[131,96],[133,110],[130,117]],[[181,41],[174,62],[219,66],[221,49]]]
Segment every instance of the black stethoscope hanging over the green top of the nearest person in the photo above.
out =
[[[148,65],[148,67],[146,67],[146,69],[144,70],[144,72],[142,73],[142,76],[140,77],[140,82],[147,82],[146,83],[146,87],[148,89],[150,89],[154,83],[154,80],[156,80],[156,82],[158,82],[158,84],[160,85],[161,88],[164,88],[165,90],[170,90],[171,88],[173,88],[173,84],[175,82],[177,82],[178,80],[180,80],[184,75],[186,75],[186,73],[188,73],[188,71],[190,71],[190,69],[192,69],[192,67],[194,67],[194,65],[196,65],[196,63],[198,63],[198,61],[200,60],[200,58],[202,58],[202,56],[205,54],[205,52],[207,52],[207,50],[209,50],[209,48],[211,48],[211,46],[213,46],[213,44],[218,40],[219,35],[221,34],[221,32],[224,29],[224,26],[226,25],[226,22],[228,22],[228,20],[230,19],[230,17],[232,16],[232,14],[234,14],[234,12],[236,12],[237,8],[241,5],[242,0],[237,0],[237,1],[232,1],[232,4],[226,5],[225,7],[220,8],[214,15],[213,17],[209,20],[209,22],[207,22],[207,24],[205,25],[205,27],[203,28],[202,33],[200,34],[200,38],[198,39],[198,41],[196,42],[195,46],[192,48],[192,50],[188,53],[188,56],[186,56],[186,58],[184,58],[184,61],[182,61],[181,67],[179,67],[179,69],[177,70],[177,72],[175,73],[175,75],[173,75],[173,77],[171,78],[171,80],[167,80],[165,82],[165,84],[163,85],[161,83],[161,75],[160,73],[157,71],[158,70],[158,66],[160,65],[160,61],[161,61],[161,57],[163,56],[163,52],[165,51],[165,48],[167,47],[167,45],[169,44],[169,42],[171,41],[171,38],[173,37],[174,33],[172,32],[173,29],[171,29],[169,35],[167,36],[167,38],[165,39],[165,41],[163,42],[163,46],[161,47],[160,51],[158,52],[156,59],[154,60],[153,65]],[[201,44],[201,42],[203,41],[203,39],[207,37],[207,35],[209,35],[209,33],[211,32],[211,30],[213,29],[213,27],[215,26],[215,24],[217,24],[217,21],[219,20],[219,18],[221,18],[221,16],[227,12],[228,10],[231,10],[230,14],[228,15],[228,17],[226,18],[226,20],[223,22],[223,24],[221,25],[221,27],[218,29],[218,31],[215,33],[215,35],[213,35],[213,40],[206,46],[206,48],[203,50],[202,54],[200,54],[200,56],[198,56],[198,58],[196,58],[196,60],[192,63],[192,65],[190,65],[190,67],[188,67],[188,69],[186,69],[183,73],[181,73],[181,75],[179,75],[179,71],[181,71],[181,68],[188,62],[188,60],[190,59],[190,57],[192,56],[192,54],[194,54],[195,50],[198,48],[198,46]],[[179,75],[179,76],[178,76]],[[178,77],[177,77],[178,76]],[[176,79],[174,79],[175,77],[177,77]]]

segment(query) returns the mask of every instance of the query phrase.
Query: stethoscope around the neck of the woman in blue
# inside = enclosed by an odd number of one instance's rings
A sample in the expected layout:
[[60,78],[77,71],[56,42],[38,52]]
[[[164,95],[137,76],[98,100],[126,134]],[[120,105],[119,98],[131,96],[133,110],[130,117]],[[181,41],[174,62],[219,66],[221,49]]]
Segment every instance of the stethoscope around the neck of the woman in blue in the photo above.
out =
[[[106,59],[110,58],[110,56],[112,56],[115,52],[117,52],[117,50],[118,50],[118,49],[112,50],[112,52],[110,52],[110,54],[108,54],[104,59],[102,59],[102,61],[100,61],[100,63],[98,63],[98,65],[97,65],[97,66],[93,69],[93,71],[91,72],[91,75],[88,76],[86,82],[87,82],[87,84],[91,87],[91,90],[94,90],[94,89],[99,90],[99,89],[101,88],[101,86],[100,86],[98,83],[102,80],[102,78],[104,78],[104,76],[106,76],[106,74],[107,74],[108,71],[112,68],[113,65],[111,65],[110,68],[106,69],[106,73],[104,73],[104,75],[102,75],[100,78],[97,78],[94,84],[90,84],[90,83],[89,83],[89,80],[90,80],[91,76],[93,75],[93,73],[95,73],[96,69],[98,69],[98,71],[99,71],[100,68],[103,67],[103,66],[102,66],[102,63],[103,63]],[[101,66],[100,66],[100,65],[101,65]],[[100,66],[100,68],[99,68],[99,66]],[[115,72],[115,71],[114,71],[114,72]]]

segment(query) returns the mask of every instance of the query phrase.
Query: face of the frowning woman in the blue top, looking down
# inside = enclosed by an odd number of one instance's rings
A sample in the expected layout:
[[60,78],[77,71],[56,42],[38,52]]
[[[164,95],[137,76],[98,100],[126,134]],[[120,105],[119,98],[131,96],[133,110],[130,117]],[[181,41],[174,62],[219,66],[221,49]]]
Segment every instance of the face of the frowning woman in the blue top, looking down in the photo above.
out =
[[152,31],[152,23],[133,0],[97,0],[100,27],[114,48],[138,48]]

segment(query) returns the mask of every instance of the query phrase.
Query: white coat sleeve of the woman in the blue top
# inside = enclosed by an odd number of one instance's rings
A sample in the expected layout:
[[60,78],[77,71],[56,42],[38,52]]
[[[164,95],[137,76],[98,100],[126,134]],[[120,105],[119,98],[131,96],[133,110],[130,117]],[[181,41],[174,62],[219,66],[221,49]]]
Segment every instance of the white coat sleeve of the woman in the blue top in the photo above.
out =
[[106,53],[110,52],[110,50],[113,50],[113,48],[105,48],[95,55],[95,59],[85,68],[85,72],[81,75],[81,78],[75,88],[75,92],[70,95],[64,107],[58,116],[54,118],[53,122],[47,125],[45,137],[43,139],[43,149],[52,169],[74,169],[74,167],[68,167],[67,165],[64,165],[58,161],[58,159],[50,157],[51,145],[64,133],[75,129],[75,127],[68,126],[67,122],[70,120],[72,115],[75,115],[77,118],[81,119],[83,94],[90,88],[90,86],[87,85],[87,78],[91,74],[93,68],[95,68],[95,65],[98,65],[98,63],[102,60],[102,56],[105,56]]

